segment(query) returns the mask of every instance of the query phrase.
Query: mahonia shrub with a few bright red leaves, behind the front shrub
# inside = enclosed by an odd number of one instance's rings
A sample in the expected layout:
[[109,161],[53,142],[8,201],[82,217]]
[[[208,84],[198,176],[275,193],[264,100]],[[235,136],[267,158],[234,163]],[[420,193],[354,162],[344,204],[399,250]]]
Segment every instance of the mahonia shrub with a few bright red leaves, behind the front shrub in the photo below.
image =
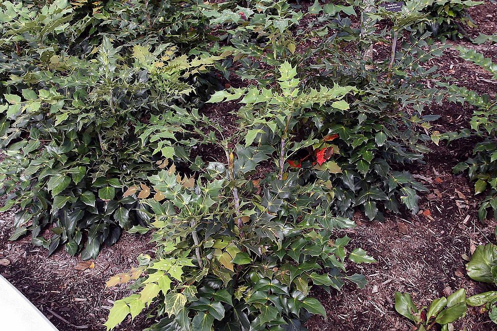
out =
[[[300,91],[318,95],[325,88],[353,86],[354,92],[341,101],[316,103],[298,119],[279,120],[298,132],[292,139],[300,146],[295,145],[288,166],[300,169],[301,176],[322,179],[335,198],[331,208],[341,216],[350,217],[357,208],[369,219],[379,220],[384,211],[418,211],[418,192],[426,188],[409,169],[422,162],[428,142],[440,139],[429,123],[438,116],[426,116],[423,109],[441,102],[447,93],[444,88],[426,86],[427,79],[438,77],[429,60],[441,56],[446,46],[435,44],[429,32],[414,33],[417,24],[427,21],[424,11],[430,3],[407,1],[400,12],[373,6],[362,12],[359,27],[350,19],[359,16],[354,6],[333,3],[315,2],[301,12],[286,1],[259,1],[253,7],[227,2],[206,12],[213,24],[225,29],[220,38],[227,46],[222,49],[236,54],[232,66],[242,79],[274,85],[278,74],[268,74],[267,66],[277,67],[283,59],[299,66],[295,79],[300,79]],[[364,9],[362,2],[354,5]],[[305,16],[307,23],[299,24]],[[390,21],[392,28],[378,30],[380,20]],[[298,47],[298,40],[318,42]],[[378,44],[388,45],[389,56],[373,58]],[[226,70],[225,74],[232,73]],[[255,107],[241,108],[239,116],[259,124],[254,129],[274,133],[274,126],[261,123],[253,114],[255,108],[261,117],[272,116],[276,107],[264,88],[248,90],[244,100]],[[226,101],[245,95],[237,89],[222,93],[229,95]],[[297,90],[292,93],[290,99],[305,102]],[[326,178],[321,175],[324,172]]]

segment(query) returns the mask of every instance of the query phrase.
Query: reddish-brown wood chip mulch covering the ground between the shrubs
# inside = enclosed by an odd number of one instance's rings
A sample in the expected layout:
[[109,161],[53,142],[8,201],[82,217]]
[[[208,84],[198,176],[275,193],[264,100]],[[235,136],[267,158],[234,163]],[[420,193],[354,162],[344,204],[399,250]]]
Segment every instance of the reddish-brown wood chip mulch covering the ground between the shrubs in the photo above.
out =
[[[471,29],[473,37],[481,31],[497,32],[497,5],[486,3],[471,9],[479,28]],[[476,48],[497,62],[497,47],[473,45],[468,41],[454,44]],[[437,60],[443,74],[457,77],[457,81],[478,92],[495,95],[497,85],[477,66],[457,57],[457,51],[448,50]],[[218,124],[231,128],[233,117],[226,108],[206,108]],[[467,127],[472,110],[468,107],[444,103],[433,106],[431,113],[440,115],[434,125],[440,132]],[[466,275],[464,265],[479,244],[495,241],[495,220],[483,224],[476,215],[478,199],[473,197],[471,183],[464,175],[454,175],[451,168],[471,152],[471,141],[458,141],[448,147],[431,146],[426,165],[412,169],[429,192],[419,201],[418,215],[387,215],[385,222],[366,222],[355,215],[358,226],[346,234],[353,247],[361,246],[373,255],[376,265],[354,266],[352,272],[362,272],[368,279],[364,289],[346,286],[331,295],[313,292],[328,312],[328,320],[313,317],[307,326],[313,331],[388,331],[410,330],[406,319],[393,309],[395,291],[406,291],[420,305],[427,305],[440,295],[448,295],[465,288],[469,295],[487,290]],[[202,150],[199,155],[222,158],[215,150]],[[210,160],[212,161],[212,160]],[[1,205],[0,200],[0,205]],[[108,309],[112,302],[128,294],[125,286],[105,289],[105,280],[136,265],[139,254],[152,253],[149,237],[125,234],[116,245],[106,248],[94,261],[94,267],[83,271],[75,269],[78,258],[59,251],[50,258],[46,252],[33,247],[29,239],[8,242],[11,233],[11,213],[0,214],[0,273],[31,300],[60,331],[104,330]],[[345,233],[344,233],[345,234]],[[352,266],[350,266],[352,267]],[[118,330],[138,331],[144,325],[138,318],[129,320]],[[470,309],[456,330],[495,330],[488,316]]]

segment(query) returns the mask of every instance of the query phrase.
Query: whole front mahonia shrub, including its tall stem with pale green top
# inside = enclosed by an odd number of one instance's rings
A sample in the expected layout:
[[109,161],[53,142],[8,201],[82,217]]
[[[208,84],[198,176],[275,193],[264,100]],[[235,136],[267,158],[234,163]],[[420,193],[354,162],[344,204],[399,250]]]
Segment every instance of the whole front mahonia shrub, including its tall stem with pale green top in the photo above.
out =
[[[201,143],[222,149],[220,160],[197,157],[187,172],[165,161],[161,172],[149,176],[151,187],[130,188],[149,207],[144,212],[157,252],[107,282],[136,279],[135,293],[111,308],[108,329],[147,310],[160,318],[150,331],[301,330],[310,314],[326,318],[320,302],[308,296],[311,286],[330,292],[346,282],[365,285],[365,277],[348,274],[345,263],[376,260],[361,248],[347,251],[350,239],[336,237],[336,230],[354,223],[334,216],[328,171],[322,180],[289,167],[292,155],[312,140],[293,141],[305,111],[327,103],[347,107],[343,98],[354,88],[302,89],[297,68],[286,61],[274,75],[271,88],[230,88],[210,98],[241,99],[237,133],[224,138],[220,125],[197,118],[219,133],[205,134]],[[262,162],[275,170],[250,179]]]

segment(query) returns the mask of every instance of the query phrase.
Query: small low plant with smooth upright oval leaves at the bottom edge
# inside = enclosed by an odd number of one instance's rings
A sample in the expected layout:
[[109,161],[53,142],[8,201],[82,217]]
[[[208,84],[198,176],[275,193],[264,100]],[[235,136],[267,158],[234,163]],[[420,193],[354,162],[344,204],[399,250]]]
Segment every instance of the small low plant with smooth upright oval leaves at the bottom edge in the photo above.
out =
[[395,292],[395,310],[413,322],[416,330],[434,330],[436,325],[442,331],[453,330],[452,323],[463,317],[467,311],[466,290],[461,288],[448,297],[431,302],[429,307],[418,308],[409,293]]

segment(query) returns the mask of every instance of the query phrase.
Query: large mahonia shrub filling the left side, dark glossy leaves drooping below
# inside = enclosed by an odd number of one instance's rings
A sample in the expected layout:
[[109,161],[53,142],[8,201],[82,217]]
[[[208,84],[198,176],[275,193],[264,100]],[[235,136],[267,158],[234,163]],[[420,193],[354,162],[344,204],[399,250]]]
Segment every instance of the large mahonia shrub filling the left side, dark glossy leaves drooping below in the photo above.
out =
[[126,43],[115,32],[82,45],[106,24],[77,20],[75,10],[67,1],[0,4],[0,194],[1,210],[17,211],[11,239],[30,232],[49,254],[65,245],[89,259],[148,220],[123,188],[194,145],[187,109],[197,90],[208,93],[202,75],[220,58],[179,55],[157,37]]

